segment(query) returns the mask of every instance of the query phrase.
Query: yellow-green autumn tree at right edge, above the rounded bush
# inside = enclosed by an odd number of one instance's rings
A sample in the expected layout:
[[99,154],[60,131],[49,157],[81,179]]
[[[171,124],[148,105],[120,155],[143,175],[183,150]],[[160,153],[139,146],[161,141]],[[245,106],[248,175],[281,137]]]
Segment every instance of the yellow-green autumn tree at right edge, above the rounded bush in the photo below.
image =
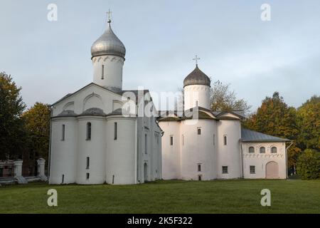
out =
[[312,96],[297,110],[297,125],[300,130],[297,141],[302,149],[320,151],[320,96]]

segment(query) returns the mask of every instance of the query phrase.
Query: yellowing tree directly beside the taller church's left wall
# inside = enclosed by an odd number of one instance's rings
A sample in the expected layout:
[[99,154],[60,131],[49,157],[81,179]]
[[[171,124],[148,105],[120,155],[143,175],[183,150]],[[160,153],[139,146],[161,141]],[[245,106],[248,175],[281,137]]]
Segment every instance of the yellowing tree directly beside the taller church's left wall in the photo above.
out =
[[49,105],[36,103],[23,113],[28,142],[27,150],[32,157],[43,157],[48,160],[50,140],[50,108]]

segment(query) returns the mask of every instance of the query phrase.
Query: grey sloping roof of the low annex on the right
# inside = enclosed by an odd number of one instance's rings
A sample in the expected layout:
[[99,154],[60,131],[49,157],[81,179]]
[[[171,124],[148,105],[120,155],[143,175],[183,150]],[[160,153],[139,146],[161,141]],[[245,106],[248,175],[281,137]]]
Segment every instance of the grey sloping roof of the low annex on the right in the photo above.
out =
[[241,140],[242,142],[287,142],[290,141],[287,138],[278,138],[272,135],[266,135],[258,133],[254,130],[248,130],[241,128]]

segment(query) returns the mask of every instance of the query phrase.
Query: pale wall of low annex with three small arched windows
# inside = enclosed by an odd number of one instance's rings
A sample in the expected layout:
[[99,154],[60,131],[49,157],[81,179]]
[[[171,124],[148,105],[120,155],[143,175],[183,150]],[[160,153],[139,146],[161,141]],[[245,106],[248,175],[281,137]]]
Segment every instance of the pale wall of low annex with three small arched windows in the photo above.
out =
[[[249,152],[249,147],[254,147],[255,151]],[[260,153],[261,147],[265,147],[265,153]],[[272,147],[277,147],[277,153],[271,152]],[[265,178],[267,163],[277,162],[279,179],[285,179],[287,177],[285,156],[284,142],[242,142],[244,178]],[[250,166],[255,166],[255,173],[250,173]]]

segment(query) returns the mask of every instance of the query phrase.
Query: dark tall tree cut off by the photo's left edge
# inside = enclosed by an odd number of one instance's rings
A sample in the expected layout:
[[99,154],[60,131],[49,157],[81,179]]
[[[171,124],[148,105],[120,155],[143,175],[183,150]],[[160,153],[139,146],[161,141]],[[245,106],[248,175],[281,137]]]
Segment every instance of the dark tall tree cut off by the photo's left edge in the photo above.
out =
[[10,75],[0,73],[0,160],[16,159],[21,155],[24,142],[21,114],[26,108]]

